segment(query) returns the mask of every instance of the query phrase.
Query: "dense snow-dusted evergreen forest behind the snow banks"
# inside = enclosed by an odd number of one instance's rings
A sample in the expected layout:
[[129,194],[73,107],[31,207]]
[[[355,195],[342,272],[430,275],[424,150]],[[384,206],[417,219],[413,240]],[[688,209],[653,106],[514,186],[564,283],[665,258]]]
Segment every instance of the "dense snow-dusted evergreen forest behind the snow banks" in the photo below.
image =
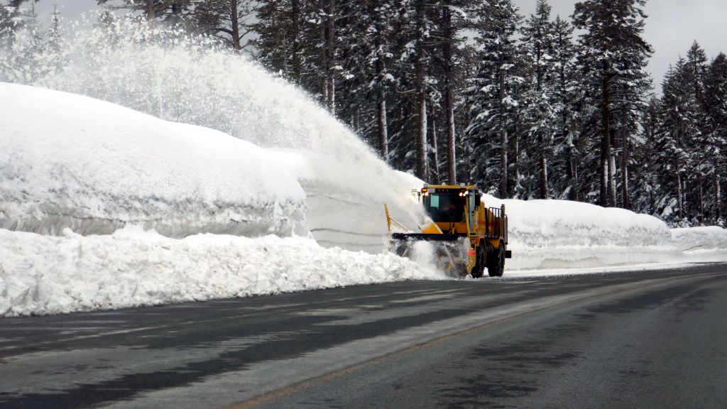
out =
[[[0,1],[0,47],[15,47],[33,0]],[[548,0],[532,15],[512,0],[89,5],[98,24],[131,14],[249,55],[427,183],[724,225],[727,56],[694,41],[654,84],[646,0],[576,1],[569,16]],[[25,47],[55,47],[59,15]]]

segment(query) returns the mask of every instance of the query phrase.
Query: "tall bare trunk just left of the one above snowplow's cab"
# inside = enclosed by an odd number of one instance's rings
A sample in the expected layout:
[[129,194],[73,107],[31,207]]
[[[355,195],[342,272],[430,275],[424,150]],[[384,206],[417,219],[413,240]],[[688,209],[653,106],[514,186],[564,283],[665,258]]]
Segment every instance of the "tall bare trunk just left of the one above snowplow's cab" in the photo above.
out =
[[425,56],[424,56],[424,31],[425,31],[425,9],[424,0],[417,0],[417,177],[426,180],[428,176],[427,164],[427,95],[424,88]]

